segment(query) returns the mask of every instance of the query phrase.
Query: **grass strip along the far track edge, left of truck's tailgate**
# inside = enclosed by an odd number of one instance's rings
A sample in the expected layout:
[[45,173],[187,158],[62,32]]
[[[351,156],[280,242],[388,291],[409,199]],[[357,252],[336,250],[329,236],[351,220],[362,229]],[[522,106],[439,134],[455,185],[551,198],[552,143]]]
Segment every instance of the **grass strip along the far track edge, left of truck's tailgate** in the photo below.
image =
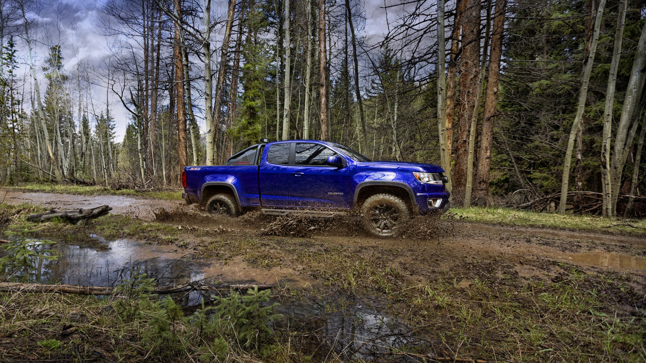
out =
[[81,186],[73,184],[25,184],[22,186],[3,186],[5,190],[41,191],[46,193],[67,193],[79,195],[129,195],[132,197],[151,197],[158,199],[182,199],[181,191],[138,191],[134,189],[112,189],[105,186]]

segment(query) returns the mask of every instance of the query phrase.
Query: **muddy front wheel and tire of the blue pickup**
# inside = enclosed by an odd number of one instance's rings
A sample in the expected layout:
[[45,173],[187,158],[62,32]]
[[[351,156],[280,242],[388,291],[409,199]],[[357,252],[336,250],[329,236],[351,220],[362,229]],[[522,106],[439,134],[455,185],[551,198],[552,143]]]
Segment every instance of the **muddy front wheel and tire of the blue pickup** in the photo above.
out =
[[393,237],[397,235],[397,227],[410,219],[411,211],[400,197],[380,193],[366,199],[359,215],[364,230],[371,235]]

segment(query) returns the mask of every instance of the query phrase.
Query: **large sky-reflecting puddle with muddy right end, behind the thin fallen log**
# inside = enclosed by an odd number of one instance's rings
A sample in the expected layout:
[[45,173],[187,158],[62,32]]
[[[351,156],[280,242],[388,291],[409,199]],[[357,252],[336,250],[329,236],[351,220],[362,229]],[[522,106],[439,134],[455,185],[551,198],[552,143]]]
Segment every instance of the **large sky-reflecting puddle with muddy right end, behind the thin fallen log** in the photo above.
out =
[[307,280],[295,277],[295,271],[278,268],[252,268],[242,260],[227,264],[196,259],[191,252],[173,246],[145,244],[138,240],[106,240],[97,235],[71,235],[66,239],[26,239],[38,251],[48,250],[56,260],[36,259],[36,276],[42,282],[89,286],[115,286],[132,273],[145,273],[160,286],[179,286],[189,282],[293,284],[304,286]]

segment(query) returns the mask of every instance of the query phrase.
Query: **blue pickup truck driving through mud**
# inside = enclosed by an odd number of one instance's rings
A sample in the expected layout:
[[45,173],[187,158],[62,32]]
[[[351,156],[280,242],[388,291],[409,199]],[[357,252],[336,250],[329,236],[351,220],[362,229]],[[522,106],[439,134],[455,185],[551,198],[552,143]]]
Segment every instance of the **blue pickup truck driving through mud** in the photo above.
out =
[[371,161],[336,142],[264,142],[226,165],[185,167],[182,197],[231,216],[251,208],[319,217],[357,211],[366,231],[390,237],[413,215],[448,209],[443,172],[429,164]]

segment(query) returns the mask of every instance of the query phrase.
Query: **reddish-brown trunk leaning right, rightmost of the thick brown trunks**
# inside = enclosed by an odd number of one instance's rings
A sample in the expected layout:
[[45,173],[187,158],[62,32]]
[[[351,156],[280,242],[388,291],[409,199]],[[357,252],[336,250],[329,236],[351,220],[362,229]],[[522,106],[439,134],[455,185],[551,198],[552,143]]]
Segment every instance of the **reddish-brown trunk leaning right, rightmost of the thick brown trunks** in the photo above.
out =
[[489,196],[489,173],[491,170],[491,152],[494,144],[494,117],[498,100],[500,80],[500,59],[503,52],[503,32],[505,30],[506,0],[495,2],[494,27],[491,37],[491,52],[486,82],[485,110],[483,113],[482,142],[478,153],[478,166],[475,197],[480,206],[485,206]]

